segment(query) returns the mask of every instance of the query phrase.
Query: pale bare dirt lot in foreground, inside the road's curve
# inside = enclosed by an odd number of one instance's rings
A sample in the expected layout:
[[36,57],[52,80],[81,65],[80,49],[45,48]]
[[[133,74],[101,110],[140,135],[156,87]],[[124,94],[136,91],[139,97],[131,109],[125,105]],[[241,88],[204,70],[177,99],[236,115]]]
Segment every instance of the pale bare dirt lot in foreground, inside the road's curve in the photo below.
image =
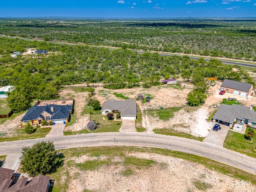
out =
[[[205,166],[172,156],[154,153],[130,152],[126,157],[153,160],[151,166],[124,164],[124,157],[82,155],[67,161],[85,163],[104,161],[111,158],[111,164],[96,170],[81,170],[64,164],[60,182],[64,184],[68,172],[67,192],[108,191],[108,192],[253,192],[256,186],[243,184],[241,180],[210,170]],[[129,170],[130,174],[125,173]],[[185,171],[184,171],[185,170]],[[65,173],[64,173],[65,172]]]

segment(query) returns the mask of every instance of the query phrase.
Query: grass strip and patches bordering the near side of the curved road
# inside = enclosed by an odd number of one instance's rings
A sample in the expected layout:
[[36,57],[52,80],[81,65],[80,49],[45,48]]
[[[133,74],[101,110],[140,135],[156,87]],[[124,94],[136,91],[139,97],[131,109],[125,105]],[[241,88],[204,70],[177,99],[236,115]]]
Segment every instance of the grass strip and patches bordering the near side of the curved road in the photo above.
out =
[[[145,153],[156,153],[162,154],[166,156],[174,156],[177,158],[182,158],[185,160],[189,160],[191,162],[197,162],[209,168],[210,170],[221,172],[222,174],[228,174],[233,178],[238,180],[250,180],[252,184],[256,184],[256,177],[253,174],[247,173],[243,170],[234,168],[232,166],[228,166],[226,164],[222,164],[216,162],[214,160],[210,160],[207,158],[203,158],[200,156],[186,154],[182,152],[166,150],[166,149],[158,149],[158,148],[143,148],[143,147],[125,147],[125,146],[100,146],[100,147],[83,147],[83,148],[72,148],[72,149],[62,149],[58,150],[63,152],[65,155],[64,164],[66,164],[66,168],[61,167],[57,170],[57,172],[49,175],[50,178],[54,178],[56,180],[53,192],[66,192],[68,190],[68,184],[71,179],[78,179],[78,178],[71,178],[70,171],[72,171],[73,167],[79,168],[80,170],[84,171],[86,174],[86,170],[97,170],[101,166],[108,166],[112,165],[116,162],[113,161],[116,156],[124,157],[122,163],[124,165],[124,171],[121,173],[123,176],[131,176],[136,174],[134,170],[141,168],[147,168],[154,164],[158,164],[158,162],[154,162],[153,160],[141,159],[126,156],[126,153],[130,152],[145,152]],[[98,160],[88,160],[80,163],[75,163],[73,160],[68,160],[72,157],[79,157],[80,155],[87,154],[88,156],[96,156],[99,157]],[[100,159],[100,156],[107,156],[107,158]],[[204,184],[198,183],[195,180],[196,186],[198,188],[202,188]],[[207,186],[204,186],[204,188]]]

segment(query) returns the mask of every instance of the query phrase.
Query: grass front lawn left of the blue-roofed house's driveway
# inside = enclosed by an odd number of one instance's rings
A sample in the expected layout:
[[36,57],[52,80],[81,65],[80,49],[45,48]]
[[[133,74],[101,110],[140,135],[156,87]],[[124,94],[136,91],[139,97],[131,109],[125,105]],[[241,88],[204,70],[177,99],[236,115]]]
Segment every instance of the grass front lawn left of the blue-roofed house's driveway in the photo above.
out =
[[16,136],[16,137],[10,137],[10,138],[0,137],[0,142],[24,140],[24,139],[35,139],[35,138],[45,137],[50,132],[51,128],[49,128],[49,127],[37,128],[36,131],[31,134],[26,134],[24,130],[25,129],[17,129],[16,133],[18,134],[18,136]]

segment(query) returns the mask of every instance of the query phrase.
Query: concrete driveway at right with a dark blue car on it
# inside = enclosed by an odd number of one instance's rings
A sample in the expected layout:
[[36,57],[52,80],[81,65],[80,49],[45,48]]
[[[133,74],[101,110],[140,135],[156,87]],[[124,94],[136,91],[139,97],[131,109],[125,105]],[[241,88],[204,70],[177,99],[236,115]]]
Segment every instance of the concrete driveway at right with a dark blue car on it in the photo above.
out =
[[[214,126],[215,124],[213,124]],[[223,147],[224,140],[228,134],[229,127],[219,124],[221,127],[221,130],[214,131],[212,128],[210,129],[210,132],[206,136],[206,138],[203,140],[206,143],[214,144]]]

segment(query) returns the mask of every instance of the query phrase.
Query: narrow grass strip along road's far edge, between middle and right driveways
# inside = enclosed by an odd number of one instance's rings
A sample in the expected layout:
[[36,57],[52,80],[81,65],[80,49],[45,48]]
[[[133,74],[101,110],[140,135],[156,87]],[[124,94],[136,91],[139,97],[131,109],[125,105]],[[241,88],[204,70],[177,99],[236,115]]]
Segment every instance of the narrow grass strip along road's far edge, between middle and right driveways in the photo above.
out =
[[198,140],[198,141],[203,141],[205,138],[205,137],[195,137],[195,136],[192,136],[192,135],[184,133],[184,132],[174,131],[174,130],[170,130],[170,129],[154,129],[153,131],[156,134],[183,137],[183,138],[194,139],[194,140]]

